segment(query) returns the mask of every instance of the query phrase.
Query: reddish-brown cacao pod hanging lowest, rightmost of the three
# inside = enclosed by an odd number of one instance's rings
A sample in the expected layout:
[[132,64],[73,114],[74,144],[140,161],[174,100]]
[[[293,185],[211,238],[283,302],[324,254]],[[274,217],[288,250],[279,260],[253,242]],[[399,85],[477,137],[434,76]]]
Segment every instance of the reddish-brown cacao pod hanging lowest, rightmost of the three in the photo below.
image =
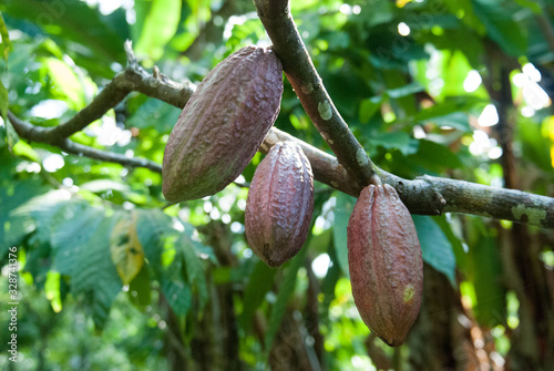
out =
[[400,346],[419,313],[423,260],[410,212],[390,185],[361,192],[348,223],[348,264],[363,322]]

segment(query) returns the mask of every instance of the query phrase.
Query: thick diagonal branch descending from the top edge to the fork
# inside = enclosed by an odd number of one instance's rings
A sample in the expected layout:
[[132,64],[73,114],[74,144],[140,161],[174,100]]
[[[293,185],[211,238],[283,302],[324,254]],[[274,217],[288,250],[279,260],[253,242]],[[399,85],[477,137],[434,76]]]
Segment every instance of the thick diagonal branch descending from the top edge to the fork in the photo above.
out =
[[255,0],[274,50],[306,113],[357,184],[370,183],[377,167],[369,159],[325,90],[289,12],[287,0]]

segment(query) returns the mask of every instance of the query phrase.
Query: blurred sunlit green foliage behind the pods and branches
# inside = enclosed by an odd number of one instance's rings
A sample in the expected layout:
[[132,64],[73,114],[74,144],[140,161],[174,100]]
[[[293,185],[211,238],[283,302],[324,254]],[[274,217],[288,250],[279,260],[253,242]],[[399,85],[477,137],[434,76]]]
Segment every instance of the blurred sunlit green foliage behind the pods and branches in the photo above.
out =
[[[249,0],[7,0],[0,12],[0,111],[41,126],[72,117],[124,69],[127,39],[145,68],[193,82],[239,48],[269,43]],[[383,169],[505,186],[510,161],[517,187],[554,195],[554,34],[541,23],[551,24],[548,2],[293,0],[291,12],[338,110]],[[509,146],[497,65],[511,81]],[[132,94],[72,140],[161,163],[178,114]],[[276,126],[329,151],[286,80]],[[273,270],[244,237],[246,188],[164,208],[160,174],[16,143],[7,121],[0,132],[0,258],[17,246],[21,265],[20,362],[8,362],[2,342],[3,367],[408,367],[414,350],[375,340],[353,306],[346,226],[355,198],[316,184],[312,233]],[[505,247],[514,226],[464,215],[413,219],[428,268],[450,282],[455,310],[479,331],[472,347],[502,368],[521,346],[520,291],[538,290],[506,278],[517,270]],[[526,236],[514,248],[532,250],[551,280],[537,296],[550,302],[534,305],[552,315],[554,236],[538,228]],[[0,280],[7,287],[6,275]]]

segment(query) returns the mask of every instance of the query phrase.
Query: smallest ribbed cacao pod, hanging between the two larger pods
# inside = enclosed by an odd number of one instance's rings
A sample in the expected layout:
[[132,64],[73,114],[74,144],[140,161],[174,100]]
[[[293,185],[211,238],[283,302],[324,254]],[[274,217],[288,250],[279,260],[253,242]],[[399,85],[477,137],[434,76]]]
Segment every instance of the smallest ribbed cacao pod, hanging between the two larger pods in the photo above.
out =
[[314,175],[302,150],[279,142],[259,163],[245,209],[248,245],[269,267],[278,267],[302,247],[314,212]]

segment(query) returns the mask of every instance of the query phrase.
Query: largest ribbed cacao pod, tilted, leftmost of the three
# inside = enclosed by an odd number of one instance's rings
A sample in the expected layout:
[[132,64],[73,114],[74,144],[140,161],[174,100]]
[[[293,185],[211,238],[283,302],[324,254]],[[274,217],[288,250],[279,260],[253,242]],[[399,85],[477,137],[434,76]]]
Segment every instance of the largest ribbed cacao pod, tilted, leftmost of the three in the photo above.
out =
[[165,198],[202,198],[235,181],[277,118],[281,95],[283,66],[271,49],[245,47],[217,64],[167,141]]

